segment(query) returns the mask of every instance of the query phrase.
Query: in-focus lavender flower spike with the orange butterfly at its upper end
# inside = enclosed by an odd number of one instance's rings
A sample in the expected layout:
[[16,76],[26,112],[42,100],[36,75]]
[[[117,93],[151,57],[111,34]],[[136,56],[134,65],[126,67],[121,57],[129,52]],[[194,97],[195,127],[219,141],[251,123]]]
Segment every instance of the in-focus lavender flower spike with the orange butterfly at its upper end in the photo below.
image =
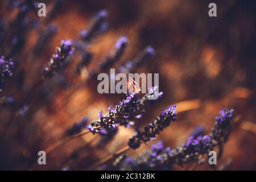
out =
[[113,130],[120,124],[123,118],[126,118],[129,113],[137,110],[138,98],[135,97],[135,93],[131,93],[127,96],[126,100],[119,102],[115,108],[110,107],[109,113],[103,116],[102,112],[99,114],[99,119],[90,123],[87,126],[91,133],[105,134],[106,132]]

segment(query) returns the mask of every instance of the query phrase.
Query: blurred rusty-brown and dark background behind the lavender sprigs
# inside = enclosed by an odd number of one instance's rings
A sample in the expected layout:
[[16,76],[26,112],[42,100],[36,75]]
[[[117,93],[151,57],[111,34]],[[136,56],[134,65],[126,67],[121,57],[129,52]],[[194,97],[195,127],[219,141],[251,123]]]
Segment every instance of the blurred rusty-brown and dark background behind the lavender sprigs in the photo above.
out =
[[[46,5],[52,1],[46,1]],[[47,43],[43,54],[28,63],[31,47],[38,32],[31,31],[19,57],[20,67],[25,73],[24,90],[29,89],[40,77],[40,69],[49,59],[60,40],[77,39],[79,32],[88,26],[92,16],[98,10],[109,11],[110,29],[102,34],[89,47],[94,53],[93,62],[88,69],[97,66],[97,62],[108,54],[119,36],[127,36],[129,44],[125,55],[115,68],[124,61],[133,59],[145,46],[155,48],[156,55],[149,63],[137,69],[138,73],[159,73],[159,89],[163,98],[151,106],[143,118],[135,122],[144,126],[154,120],[160,111],[170,104],[198,99],[198,109],[179,114],[177,122],[159,135],[165,146],[174,148],[187,140],[191,131],[203,126],[209,133],[214,125],[214,117],[224,107],[235,109],[236,121],[232,133],[224,146],[224,154],[218,164],[232,159],[228,169],[256,169],[255,138],[255,10],[253,1],[214,1],[217,4],[217,17],[208,16],[208,5],[212,1],[160,0],[160,1],[65,1],[53,20],[57,33]],[[0,2],[0,15],[8,14],[3,10],[5,2]],[[36,16],[36,14],[35,14]],[[43,18],[40,18],[42,21]],[[65,71],[70,77],[77,63],[72,60]],[[19,69],[15,70],[14,82]],[[76,85],[82,81],[77,76],[68,80]],[[43,88],[50,88],[48,100],[40,98],[39,90],[30,96],[30,111],[8,131],[1,142],[1,169],[31,169],[37,161],[37,152],[49,144],[63,138],[65,130],[74,122],[88,116],[90,121],[97,119],[98,112],[106,113],[109,105],[117,105],[125,96],[119,94],[98,94],[97,81],[92,80],[85,87],[76,90],[63,105],[69,89],[57,87],[55,82],[47,80]],[[42,89],[42,88],[40,88]],[[22,93],[8,84],[6,93],[22,98]],[[1,107],[1,125],[11,116],[9,109]],[[16,119],[16,118],[14,118]],[[15,122],[15,121],[14,121]],[[5,129],[1,127],[1,132]],[[103,149],[93,145],[88,147],[81,158],[77,159],[76,169],[86,168],[91,160],[102,158],[120,148],[134,134],[134,129],[119,130],[112,143]],[[92,134],[60,147],[47,156],[47,165],[36,169],[61,169],[64,160],[71,151],[84,140],[90,140]],[[136,156],[146,150],[129,151]],[[188,169],[191,164],[174,169]],[[196,169],[209,169],[207,164]]]

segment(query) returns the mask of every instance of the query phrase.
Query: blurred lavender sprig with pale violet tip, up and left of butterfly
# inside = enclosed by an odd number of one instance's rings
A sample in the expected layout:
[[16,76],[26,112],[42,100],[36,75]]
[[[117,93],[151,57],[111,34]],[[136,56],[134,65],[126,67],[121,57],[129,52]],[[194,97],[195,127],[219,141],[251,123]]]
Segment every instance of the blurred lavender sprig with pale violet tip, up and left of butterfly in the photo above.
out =
[[100,63],[100,71],[104,71],[107,68],[111,67],[113,64],[115,64],[123,55],[125,52],[125,48],[127,46],[128,39],[126,36],[122,36],[117,40],[115,43],[115,47],[113,51],[110,52],[108,56]]

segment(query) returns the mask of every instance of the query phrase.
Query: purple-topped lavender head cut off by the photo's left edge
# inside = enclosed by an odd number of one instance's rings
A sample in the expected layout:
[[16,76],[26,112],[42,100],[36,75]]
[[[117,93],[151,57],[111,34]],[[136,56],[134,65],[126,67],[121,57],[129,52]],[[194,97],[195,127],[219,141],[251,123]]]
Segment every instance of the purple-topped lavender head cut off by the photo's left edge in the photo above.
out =
[[14,63],[12,59],[6,60],[4,56],[0,57],[0,97],[5,87],[6,78],[13,75],[13,68]]

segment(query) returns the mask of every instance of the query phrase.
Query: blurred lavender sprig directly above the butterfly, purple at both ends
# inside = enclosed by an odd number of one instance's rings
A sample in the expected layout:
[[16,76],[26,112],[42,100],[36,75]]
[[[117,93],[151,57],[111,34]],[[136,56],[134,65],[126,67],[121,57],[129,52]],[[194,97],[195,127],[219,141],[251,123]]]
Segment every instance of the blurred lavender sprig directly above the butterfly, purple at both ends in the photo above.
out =
[[125,64],[119,67],[121,73],[133,73],[137,67],[145,61],[150,60],[155,55],[155,50],[151,46],[144,48],[144,50],[133,61],[126,61]]

